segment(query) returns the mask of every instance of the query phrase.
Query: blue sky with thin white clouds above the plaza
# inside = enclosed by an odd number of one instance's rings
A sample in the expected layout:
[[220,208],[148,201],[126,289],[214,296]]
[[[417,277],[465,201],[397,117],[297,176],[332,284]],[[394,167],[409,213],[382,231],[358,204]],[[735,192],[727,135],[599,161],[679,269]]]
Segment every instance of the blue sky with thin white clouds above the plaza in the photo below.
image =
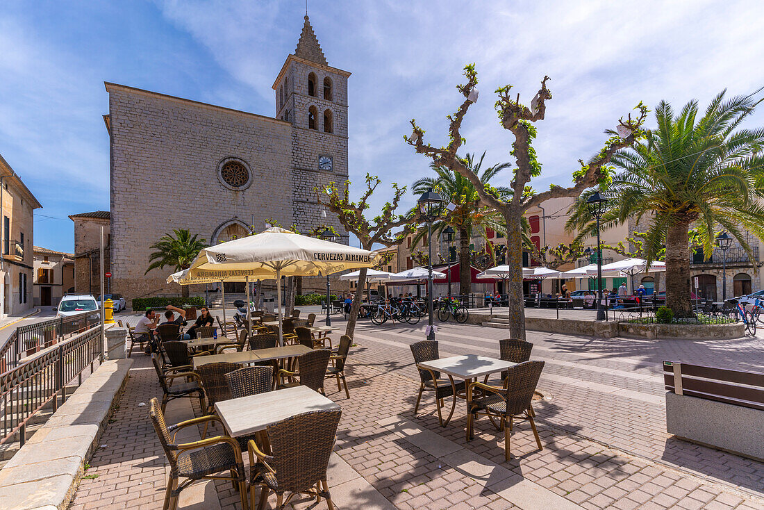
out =
[[[329,64],[353,73],[350,174],[358,183],[366,172],[400,184],[428,172],[403,143],[408,121],[444,143],[468,62],[478,66],[481,98],[465,119],[465,151],[487,151],[490,164],[511,161],[512,141],[493,90],[511,83],[529,102],[551,76],[553,99],[537,123],[536,189],[568,184],[576,161],[640,100],[678,108],[720,89],[764,85],[762,2],[312,0],[309,11]],[[270,86],[304,12],[302,0],[2,2],[0,154],[43,203],[34,243],[72,251],[67,216],[108,210],[104,81],[274,115]],[[750,122],[762,119],[759,112]],[[387,198],[380,193],[374,205]]]

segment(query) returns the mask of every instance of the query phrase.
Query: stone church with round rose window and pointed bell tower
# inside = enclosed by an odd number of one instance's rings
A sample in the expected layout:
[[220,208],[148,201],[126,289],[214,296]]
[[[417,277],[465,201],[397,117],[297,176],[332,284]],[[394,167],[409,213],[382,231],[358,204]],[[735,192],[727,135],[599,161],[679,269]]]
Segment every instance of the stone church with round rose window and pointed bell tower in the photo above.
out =
[[348,76],[329,66],[306,16],[274,81],[274,117],[105,83],[114,291],[179,292],[165,281],[171,268],[144,275],[150,246],[173,229],[216,244],[274,219],[301,232],[334,226],[348,242],[313,190],[348,178]]

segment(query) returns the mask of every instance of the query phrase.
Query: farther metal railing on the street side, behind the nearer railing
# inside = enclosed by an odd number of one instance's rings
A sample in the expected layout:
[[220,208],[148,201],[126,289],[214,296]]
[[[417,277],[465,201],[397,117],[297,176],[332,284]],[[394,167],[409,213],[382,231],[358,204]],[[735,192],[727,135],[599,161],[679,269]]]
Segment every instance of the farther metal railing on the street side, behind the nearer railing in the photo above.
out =
[[90,311],[19,326],[0,348],[0,374],[13,369],[20,359],[60,343],[66,337],[81,333],[100,322],[99,312]]

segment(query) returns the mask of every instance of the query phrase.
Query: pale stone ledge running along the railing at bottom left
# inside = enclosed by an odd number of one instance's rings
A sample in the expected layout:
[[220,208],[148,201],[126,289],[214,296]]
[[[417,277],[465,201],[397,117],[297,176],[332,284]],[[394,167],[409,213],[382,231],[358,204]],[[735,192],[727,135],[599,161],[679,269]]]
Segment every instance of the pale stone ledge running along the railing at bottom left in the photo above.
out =
[[132,359],[104,362],[0,470],[3,510],[65,510],[98,447]]

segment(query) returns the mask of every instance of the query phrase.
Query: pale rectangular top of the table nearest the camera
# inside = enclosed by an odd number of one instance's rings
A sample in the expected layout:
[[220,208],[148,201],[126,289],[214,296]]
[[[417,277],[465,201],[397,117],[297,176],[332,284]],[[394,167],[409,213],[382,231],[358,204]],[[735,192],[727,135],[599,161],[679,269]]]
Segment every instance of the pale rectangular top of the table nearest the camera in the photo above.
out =
[[231,398],[215,404],[215,411],[231,437],[254,434],[296,414],[339,408],[335,402],[307,386]]

